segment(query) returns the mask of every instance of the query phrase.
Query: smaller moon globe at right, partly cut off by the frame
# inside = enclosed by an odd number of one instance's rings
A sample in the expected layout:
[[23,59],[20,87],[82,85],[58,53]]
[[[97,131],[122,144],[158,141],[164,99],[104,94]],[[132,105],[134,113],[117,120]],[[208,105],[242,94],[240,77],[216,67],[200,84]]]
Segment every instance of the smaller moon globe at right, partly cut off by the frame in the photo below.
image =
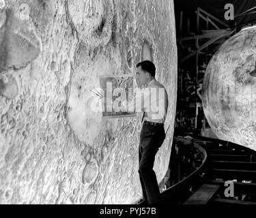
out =
[[256,28],[244,29],[212,57],[203,81],[203,110],[218,138],[256,150]]

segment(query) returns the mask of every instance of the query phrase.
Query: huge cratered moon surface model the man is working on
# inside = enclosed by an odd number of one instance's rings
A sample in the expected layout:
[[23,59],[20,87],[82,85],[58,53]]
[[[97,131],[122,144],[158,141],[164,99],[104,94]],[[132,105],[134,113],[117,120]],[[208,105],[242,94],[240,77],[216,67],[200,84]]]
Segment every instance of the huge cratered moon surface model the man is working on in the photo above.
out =
[[167,172],[177,89],[173,1],[5,0],[0,5],[0,204],[139,200],[141,116],[91,112],[99,77],[156,64],[169,110],[158,151]]

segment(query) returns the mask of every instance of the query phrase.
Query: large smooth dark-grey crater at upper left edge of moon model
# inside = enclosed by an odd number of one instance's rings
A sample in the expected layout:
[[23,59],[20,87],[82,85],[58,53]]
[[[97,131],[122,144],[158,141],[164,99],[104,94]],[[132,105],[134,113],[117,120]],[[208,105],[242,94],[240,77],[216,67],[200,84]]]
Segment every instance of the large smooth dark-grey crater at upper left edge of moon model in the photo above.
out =
[[10,8],[5,13],[5,28],[0,35],[0,72],[10,67],[25,67],[40,54],[40,42],[33,29],[29,29],[31,23],[27,17],[24,20],[17,18]]

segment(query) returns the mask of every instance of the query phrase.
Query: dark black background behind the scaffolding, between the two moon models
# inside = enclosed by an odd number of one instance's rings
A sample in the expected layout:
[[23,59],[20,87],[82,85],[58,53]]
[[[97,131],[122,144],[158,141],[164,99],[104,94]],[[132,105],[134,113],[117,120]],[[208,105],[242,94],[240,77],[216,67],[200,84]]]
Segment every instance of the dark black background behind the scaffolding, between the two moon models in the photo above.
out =
[[[231,3],[234,6],[234,20],[225,20],[225,12],[227,12],[227,10],[225,10],[225,5],[227,3]],[[200,18],[199,29],[197,29],[196,11],[198,7],[215,18],[218,18],[222,22],[225,22],[229,27],[221,25],[212,18],[210,19],[219,27],[219,30],[210,23],[207,27],[205,20]],[[178,59],[177,112],[175,117],[175,128],[182,129],[182,131],[191,130],[195,131],[196,134],[202,134],[205,129],[208,131],[210,126],[208,125],[207,119],[205,119],[202,106],[196,106],[202,103],[201,98],[195,91],[196,87],[197,89],[200,86],[203,87],[203,77],[207,69],[207,65],[221,45],[228,40],[229,37],[238,33],[242,28],[256,25],[256,1],[174,0],[174,9]],[[183,12],[182,23],[180,22],[181,12]],[[243,14],[240,15],[241,13]],[[182,25],[182,28],[180,25]],[[200,38],[198,46],[196,44],[196,40],[182,41],[181,39],[184,39],[184,37],[207,35],[209,31],[214,31],[217,35],[221,35],[218,31],[231,31],[232,33],[209,44],[207,48],[199,50],[198,58],[196,55],[193,55],[189,59],[186,59],[186,61],[182,61],[184,58],[188,57],[188,55],[197,51],[200,46],[207,44],[212,40],[212,38]],[[199,93],[201,94],[201,91],[199,91]]]

